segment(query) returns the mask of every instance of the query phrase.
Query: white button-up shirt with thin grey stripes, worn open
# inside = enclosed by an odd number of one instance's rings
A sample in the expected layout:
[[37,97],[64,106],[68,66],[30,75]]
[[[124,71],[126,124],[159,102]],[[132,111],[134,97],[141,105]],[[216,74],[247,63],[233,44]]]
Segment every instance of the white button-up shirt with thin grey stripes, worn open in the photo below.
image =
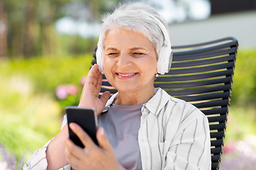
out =
[[[117,95],[107,101],[105,111]],[[66,122],[65,118],[63,125]],[[160,88],[142,106],[138,140],[142,169],[210,169],[210,130],[206,115]],[[32,166],[46,169],[47,161],[43,157],[46,157],[46,149],[35,152],[23,169],[32,169]],[[70,166],[61,169],[68,168]]]

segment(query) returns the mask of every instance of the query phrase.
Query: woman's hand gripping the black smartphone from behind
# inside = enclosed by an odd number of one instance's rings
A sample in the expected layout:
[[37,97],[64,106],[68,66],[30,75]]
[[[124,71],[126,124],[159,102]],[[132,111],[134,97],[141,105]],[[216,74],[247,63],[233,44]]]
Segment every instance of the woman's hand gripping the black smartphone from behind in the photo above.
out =
[[90,136],[75,123],[70,128],[80,138],[85,148],[78,147],[69,138],[65,140],[65,157],[73,169],[124,169],[114,155],[114,150],[107,140],[103,128],[97,130],[97,140],[101,147],[95,145]]

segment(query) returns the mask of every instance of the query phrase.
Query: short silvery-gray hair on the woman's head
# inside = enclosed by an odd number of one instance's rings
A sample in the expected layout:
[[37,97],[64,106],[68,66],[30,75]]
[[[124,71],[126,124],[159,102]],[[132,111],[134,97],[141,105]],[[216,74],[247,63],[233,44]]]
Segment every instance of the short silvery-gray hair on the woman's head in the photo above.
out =
[[156,55],[164,44],[164,35],[156,21],[151,16],[156,17],[164,24],[168,30],[166,21],[151,6],[141,3],[119,5],[113,13],[107,13],[102,16],[102,29],[100,33],[102,55],[105,53],[105,39],[107,33],[113,28],[124,28],[142,33],[148,38],[156,50]]

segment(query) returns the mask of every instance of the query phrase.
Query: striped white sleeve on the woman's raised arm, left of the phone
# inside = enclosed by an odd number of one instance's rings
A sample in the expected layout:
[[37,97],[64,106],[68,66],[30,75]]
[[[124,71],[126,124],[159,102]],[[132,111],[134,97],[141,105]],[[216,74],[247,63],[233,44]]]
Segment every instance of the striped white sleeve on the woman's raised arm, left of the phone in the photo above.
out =
[[[63,129],[63,127],[66,123],[67,123],[67,118],[65,115],[60,130]],[[46,145],[44,145],[41,149],[38,149],[38,150],[36,150],[36,152],[33,153],[31,159],[28,159],[28,162],[26,162],[26,164],[24,164],[23,170],[31,170],[31,169],[45,170],[45,169],[47,169],[48,163],[47,163],[47,159],[46,159],[46,149],[47,149],[48,145],[50,145],[50,142],[52,140],[48,141],[46,143]],[[68,164],[60,169],[70,170],[70,165]]]

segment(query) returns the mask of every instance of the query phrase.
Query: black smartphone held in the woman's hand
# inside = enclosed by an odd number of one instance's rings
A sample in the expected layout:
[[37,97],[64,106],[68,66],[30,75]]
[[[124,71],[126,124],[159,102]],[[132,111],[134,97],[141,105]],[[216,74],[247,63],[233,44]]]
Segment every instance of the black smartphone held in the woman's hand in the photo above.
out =
[[79,137],[70,129],[70,123],[77,123],[80,127],[87,132],[87,134],[92,138],[93,142],[99,146],[96,138],[97,132],[97,113],[94,108],[84,108],[77,106],[67,106],[65,108],[68,118],[68,132],[70,140],[72,140],[75,145],[82,148],[85,146],[80,141]]

